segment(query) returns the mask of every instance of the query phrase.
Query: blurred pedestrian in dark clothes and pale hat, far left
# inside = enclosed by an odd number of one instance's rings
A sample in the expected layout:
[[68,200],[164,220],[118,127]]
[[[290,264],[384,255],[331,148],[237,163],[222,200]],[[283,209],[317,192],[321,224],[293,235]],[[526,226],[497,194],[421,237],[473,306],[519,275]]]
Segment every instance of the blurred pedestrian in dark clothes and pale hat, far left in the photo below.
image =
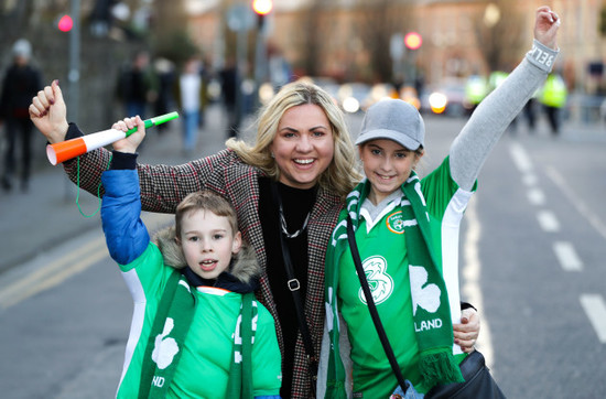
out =
[[28,190],[31,173],[31,139],[33,123],[28,108],[39,90],[42,89],[41,72],[32,65],[32,46],[25,39],[18,40],[12,47],[13,62],[3,80],[0,98],[0,125],[6,123],[7,149],[2,188],[10,191],[15,173],[15,148],[21,142],[21,190]]

